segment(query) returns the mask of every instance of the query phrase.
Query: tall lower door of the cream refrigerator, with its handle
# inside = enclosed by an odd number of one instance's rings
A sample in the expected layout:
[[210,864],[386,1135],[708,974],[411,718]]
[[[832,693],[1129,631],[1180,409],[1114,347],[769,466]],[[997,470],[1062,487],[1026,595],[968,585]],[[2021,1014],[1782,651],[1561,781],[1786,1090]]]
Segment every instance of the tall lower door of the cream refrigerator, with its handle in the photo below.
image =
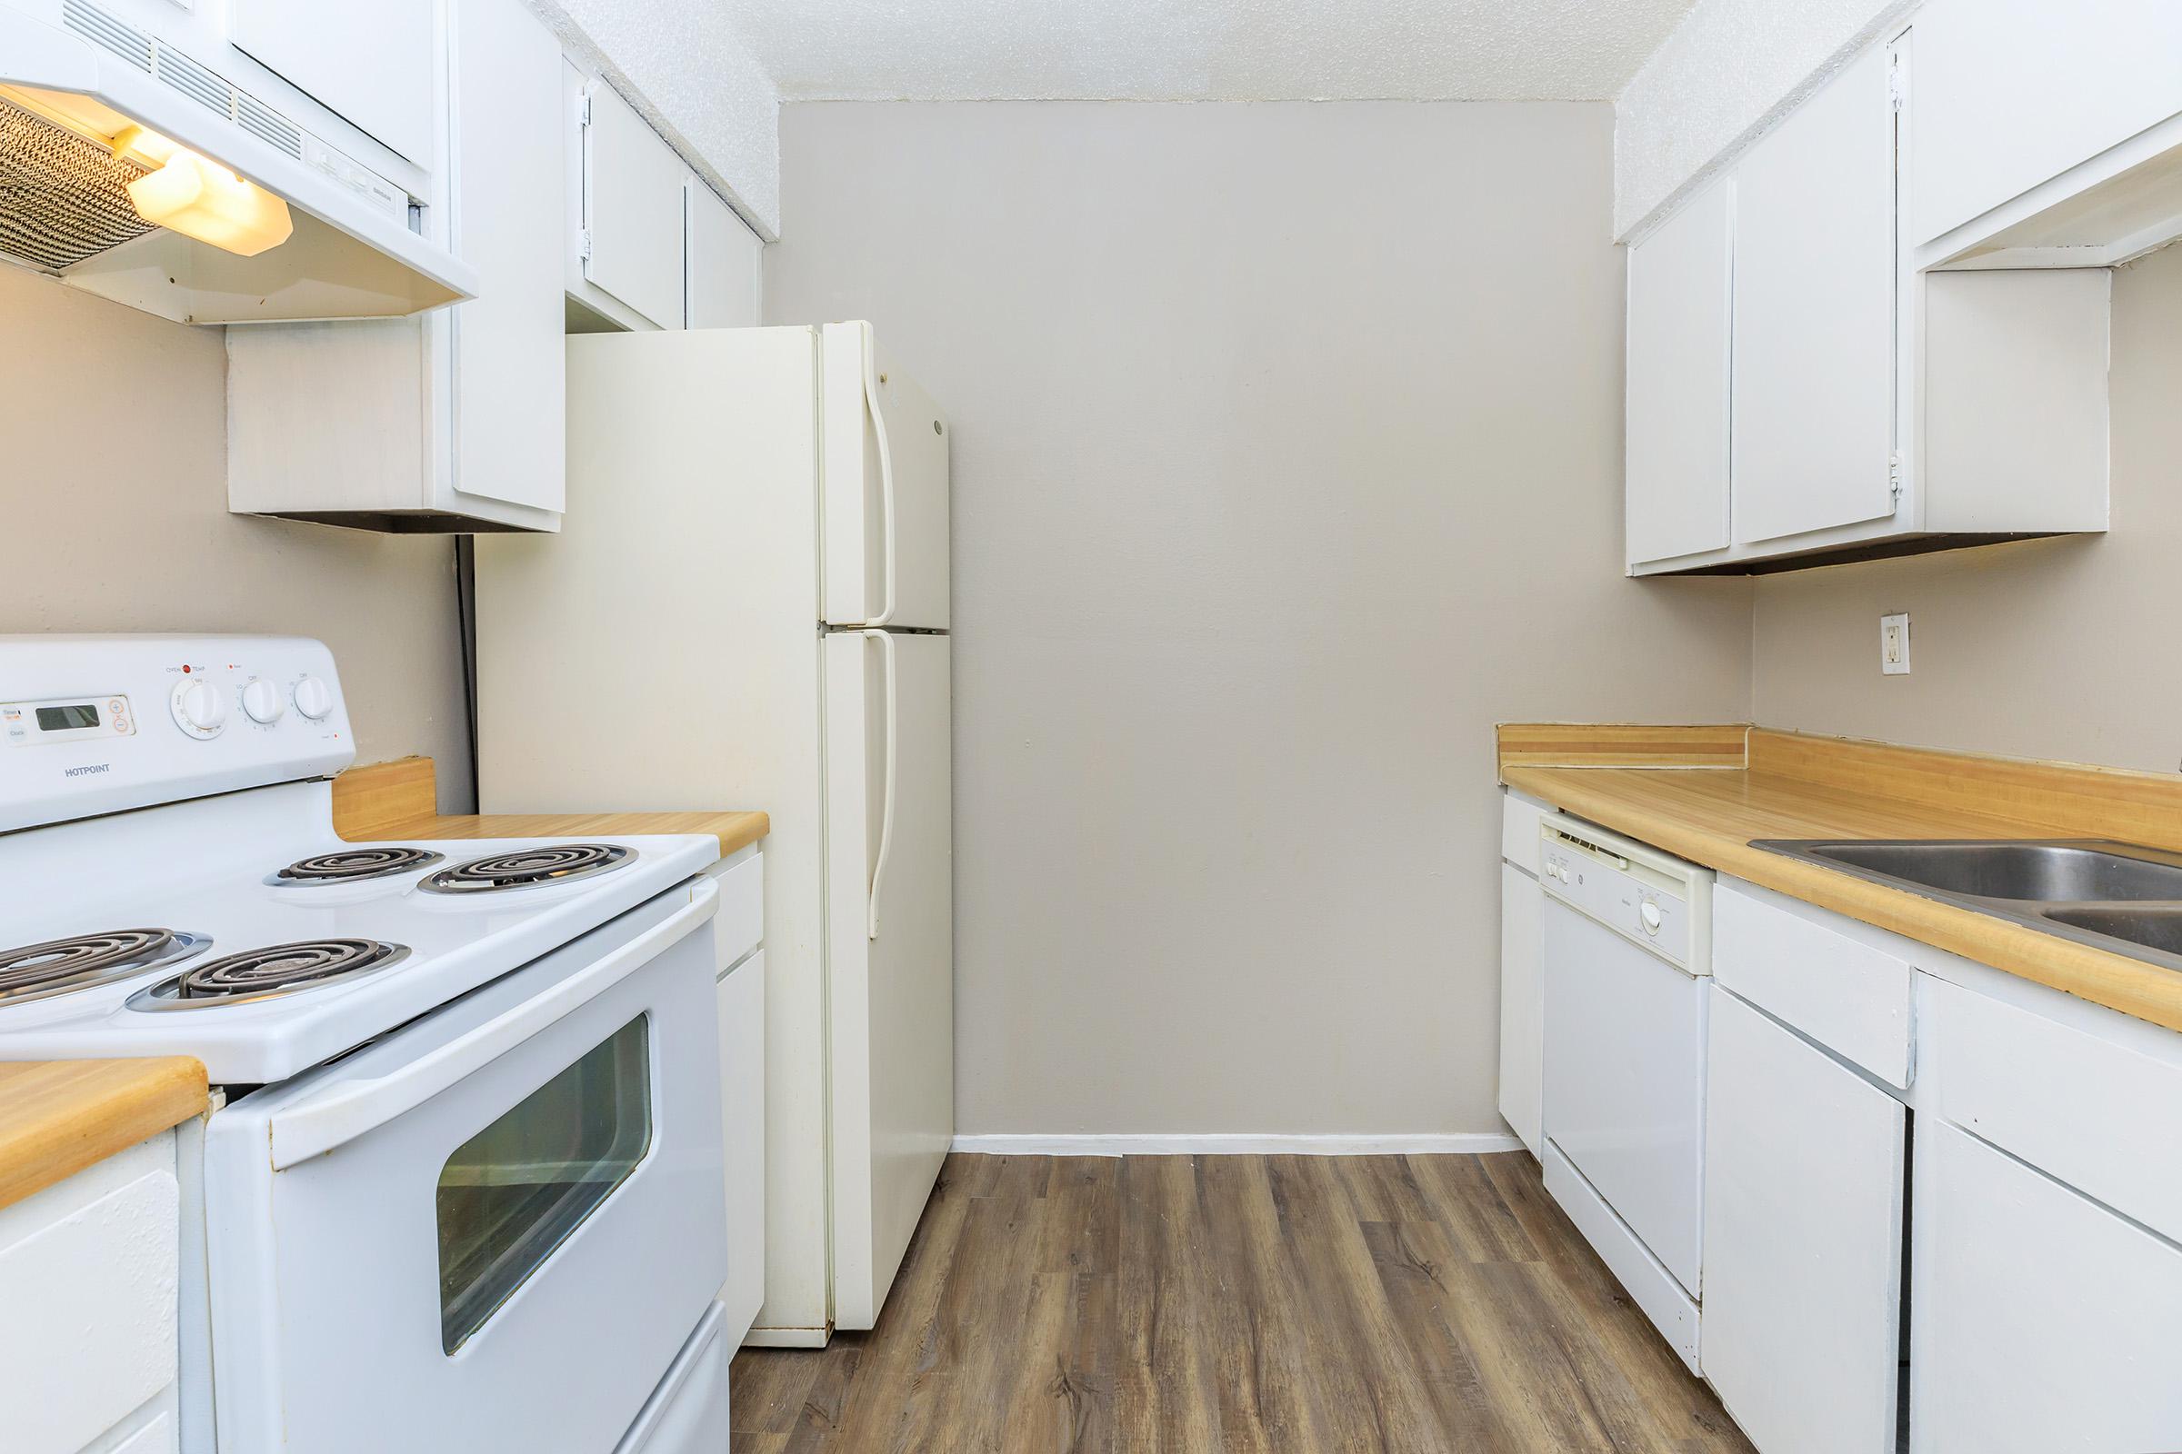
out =
[[871,1328],[954,1140],[947,637],[829,632],[834,1325]]

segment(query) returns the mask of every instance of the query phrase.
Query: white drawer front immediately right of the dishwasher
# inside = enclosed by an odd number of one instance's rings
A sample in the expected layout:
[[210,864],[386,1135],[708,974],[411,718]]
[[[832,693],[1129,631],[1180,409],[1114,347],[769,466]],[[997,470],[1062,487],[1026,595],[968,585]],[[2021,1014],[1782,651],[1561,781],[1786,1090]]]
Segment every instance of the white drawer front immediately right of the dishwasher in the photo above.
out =
[[1713,896],[1713,979],[1890,1086],[1909,1086],[1916,970],[1866,929],[1824,909],[1722,883]]

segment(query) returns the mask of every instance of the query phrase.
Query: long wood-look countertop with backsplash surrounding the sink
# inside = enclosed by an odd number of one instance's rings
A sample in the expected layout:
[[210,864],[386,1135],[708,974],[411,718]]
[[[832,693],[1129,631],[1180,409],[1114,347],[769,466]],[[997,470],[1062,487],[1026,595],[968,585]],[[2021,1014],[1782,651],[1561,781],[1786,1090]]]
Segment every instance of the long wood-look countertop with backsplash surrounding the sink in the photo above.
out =
[[[1713,735],[1722,728],[1674,728]],[[1733,765],[1643,767],[1634,728],[1501,728],[1501,780],[1748,883],[2182,1031],[2182,974],[1785,859],[1774,837],[2106,837],[2182,848],[2182,778],[2021,763],[1765,728]],[[1656,735],[1658,728],[1643,732]],[[1665,739],[1685,756],[1687,741]],[[1554,765],[1556,754],[1564,765]],[[1615,765],[1584,765],[1612,761]],[[1717,752],[1709,761],[1722,761]]]

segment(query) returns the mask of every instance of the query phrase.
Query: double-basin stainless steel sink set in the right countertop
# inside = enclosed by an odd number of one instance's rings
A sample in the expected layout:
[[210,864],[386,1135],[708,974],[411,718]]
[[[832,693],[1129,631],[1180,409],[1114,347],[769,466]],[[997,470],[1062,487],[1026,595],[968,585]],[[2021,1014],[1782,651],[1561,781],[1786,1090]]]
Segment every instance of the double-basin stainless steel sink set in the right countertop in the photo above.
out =
[[1759,839],[1805,863],[2182,970],[2182,855],[2099,839]]

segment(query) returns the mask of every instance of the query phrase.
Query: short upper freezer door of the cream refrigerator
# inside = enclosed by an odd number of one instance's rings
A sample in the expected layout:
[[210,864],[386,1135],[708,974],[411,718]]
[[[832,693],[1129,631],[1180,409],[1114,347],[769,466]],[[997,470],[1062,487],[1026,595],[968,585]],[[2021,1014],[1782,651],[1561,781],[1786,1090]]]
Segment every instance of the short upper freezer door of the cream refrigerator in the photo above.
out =
[[947,630],[951,425],[868,323],[829,323],[823,340],[825,621]]

